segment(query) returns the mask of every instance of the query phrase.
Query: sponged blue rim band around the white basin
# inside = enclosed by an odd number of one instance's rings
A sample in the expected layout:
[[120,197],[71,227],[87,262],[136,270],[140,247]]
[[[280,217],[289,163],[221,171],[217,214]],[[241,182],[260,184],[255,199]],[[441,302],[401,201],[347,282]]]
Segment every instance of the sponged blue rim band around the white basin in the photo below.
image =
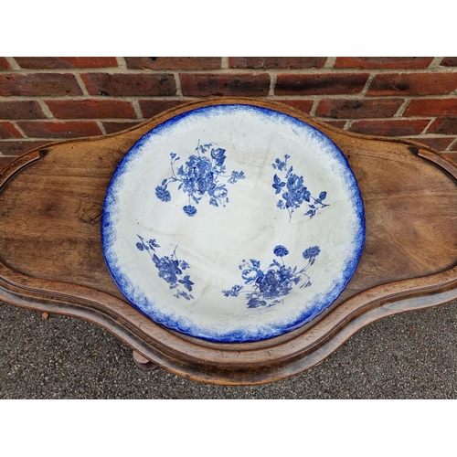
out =
[[[343,179],[347,186],[347,191],[350,195],[350,201],[355,207],[357,227],[355,228],[355,238],[352,242],[352,252],[348,255],[348,261],[345,270],[341,272],[338,281],[332,284],[332,289],[325,294],[317,294],[314,297],[313,302],[299,314],[298,317],[290,322],[281,322],[275,325],[264,325],[264,327],[257,328],[255,331],[249,329],[248,331],[240,329],[231,332],[226,332],[222,335],[212,332],[207,328],[199,327],[197,324],[189,322],[180,316],[168,315],[158,309],[154,305],[153,300],[150,297],[146,297],[143,291],[139,287],[135,286],[133,281],[128,277],[127,274],[122,272],[122,266],[117,264],[115,252],[112,249],[115,241],[115,222],[116,222],[116,207],[115,207],[115,195],[119,188],[119,180],[124,173],[128,172],[128,165],[133,161],[136,154],[139,153],[141,146],[146,143],[149,138],[156,134],[166,133],[176,122],[191,116],[196,113],[203,113],[204,115],[211,115],[211,113],[217,111],[237,111],[237,110],[248,110],[253,111],[264,116],[275,118],[279,122],[289,122],[305,128],[309,132],[313,133],[319,140],[324,141],[327,146],[330,146],[330,152],[333,157],[342,165],[344,169]],[[110,183],[107,187],[106,196],[103,204],[103,211],[101,217],[101,244],[103,248],[103,256],[113,281],[116,283],[124,297],[129,303],[133,305],[138,311],[152,319],[156,324],[164,325],[166,328],[175,330],[185,335],[197,337],[203,340],[207,340],[214,343],[251,343],[262,341],[273,338],[275,336],[287,334],[302,327],[304,324],[309,324],[317,317],[322,314],[332,303],[338,298],[338,296],[345,290],[345,286],[351,280],[354,275],[358,262],[362,256],[366,237],[366,222],[365,222],[365,209],[363,200],[360,195],[360,190],[356,183],[356,177],[353,174],[345,155],[336,146],[336,144],[328,138],[324,133],[317,130],[312,125],[304,122],[290,114],[279,112],[271,108],[263,108],[257,105],[250,104],[217,104],[204,106],[200,108],[190,109],[187,112],[183,112],[176,116],[167,119],[156,125],[148,133],[145,133],[136,143],[133,144],[132,148],[124,155],[120,164],[116,167]]]

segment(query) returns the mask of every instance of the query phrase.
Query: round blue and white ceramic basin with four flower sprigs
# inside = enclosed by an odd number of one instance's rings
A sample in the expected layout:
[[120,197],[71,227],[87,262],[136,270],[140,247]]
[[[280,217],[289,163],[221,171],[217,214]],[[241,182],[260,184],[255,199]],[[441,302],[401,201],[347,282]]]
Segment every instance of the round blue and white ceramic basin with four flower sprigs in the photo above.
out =
[[114,281],[156,323],[259,341],[310,322],[343,291],[362,253],[364,208],[323,133],[221,104],[134,144],[112,176],[101,238]]

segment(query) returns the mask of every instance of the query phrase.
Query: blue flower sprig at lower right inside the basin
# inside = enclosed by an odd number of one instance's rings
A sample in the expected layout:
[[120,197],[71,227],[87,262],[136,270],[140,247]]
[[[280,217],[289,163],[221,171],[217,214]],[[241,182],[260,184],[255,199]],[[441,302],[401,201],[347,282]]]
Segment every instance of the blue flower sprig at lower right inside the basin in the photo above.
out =
[[306,272],[312,265],[316,257],[320,254],[319,246],[312,246],[303,250],[303,259],[308,260],[306,265],[298,270],[298,267],[289,267],[284,263],[284,257],[289,254],[289,250],[282,245],[273,249],[273,254],[281,259],[281,262],[273,259],[271,264],[262,269],[260,261],[255,259],[243,259],[239,270],[245,285],[250,285],[249,290],[245,290],[244,285],[234,285],[228,291],[222,291],[226,297],[238,297],[239,293],[245,293],[248,300],[248,308],[266,308],[277,303],[282,303],[285,295],[292,291],[293,287],[300,282],[300,288],[311,286],[311,277]]

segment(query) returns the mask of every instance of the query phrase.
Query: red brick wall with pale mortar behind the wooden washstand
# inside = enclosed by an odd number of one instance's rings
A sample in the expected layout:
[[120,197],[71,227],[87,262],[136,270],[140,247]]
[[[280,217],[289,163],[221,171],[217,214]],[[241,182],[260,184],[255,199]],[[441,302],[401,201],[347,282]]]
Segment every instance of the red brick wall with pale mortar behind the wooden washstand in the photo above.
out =
[[457,58],[0,58],[0,162],[224,95],[457,155]]

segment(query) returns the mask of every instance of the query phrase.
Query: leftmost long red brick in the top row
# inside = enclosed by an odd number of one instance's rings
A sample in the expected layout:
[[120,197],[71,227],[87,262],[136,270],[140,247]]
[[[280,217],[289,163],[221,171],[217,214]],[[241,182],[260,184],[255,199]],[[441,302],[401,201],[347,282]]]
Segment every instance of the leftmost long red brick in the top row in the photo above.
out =
[[117,67],[116,58],[16,58],[23,69],[99,69]]

